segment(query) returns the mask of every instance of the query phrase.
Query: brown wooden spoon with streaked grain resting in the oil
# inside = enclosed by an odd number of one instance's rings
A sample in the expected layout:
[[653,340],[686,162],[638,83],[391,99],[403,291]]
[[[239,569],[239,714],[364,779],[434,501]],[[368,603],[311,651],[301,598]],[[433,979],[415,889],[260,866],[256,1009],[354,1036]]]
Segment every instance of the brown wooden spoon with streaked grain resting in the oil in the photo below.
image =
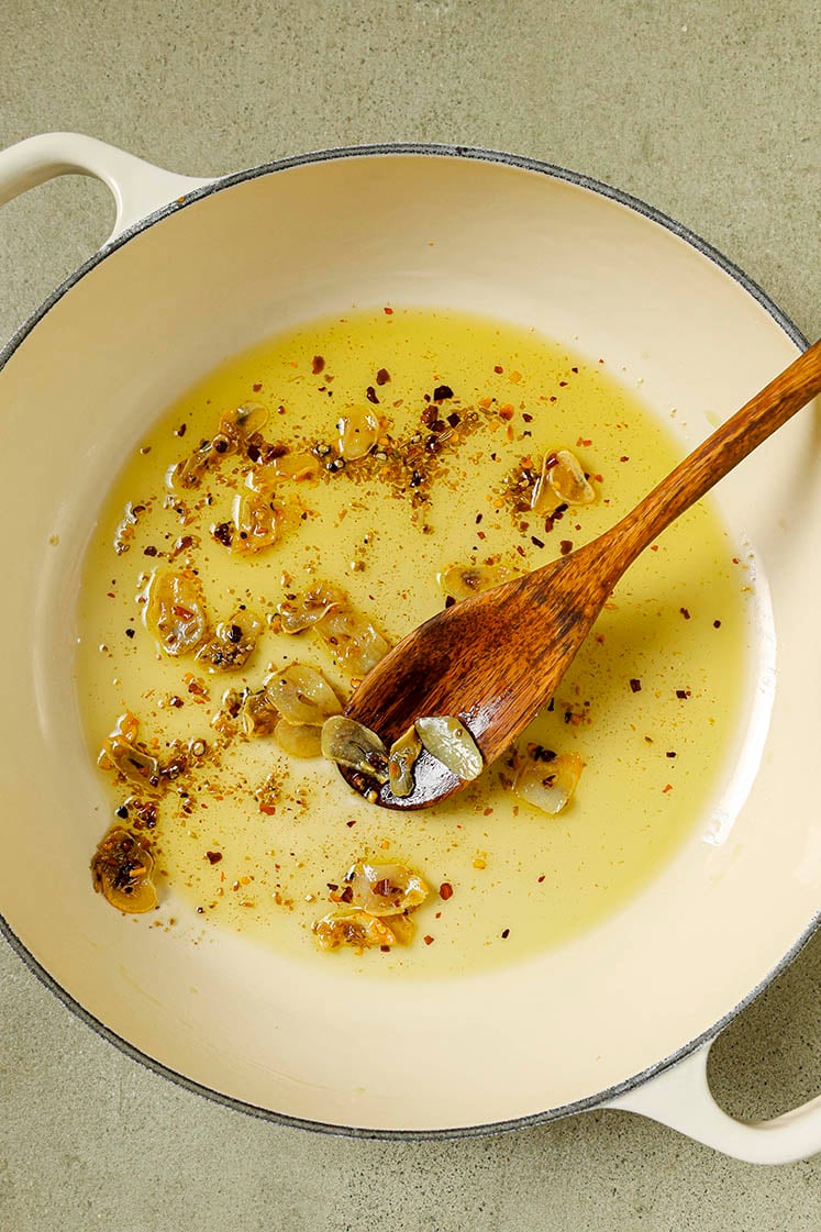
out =
[[[699,445],[636,508],[568,556],[446,607],[367,674],[345,713],[386,747],[424,715],[461,719],[489,764],[547,705],[623,573],[664,527],[821,393],[815,342]],[[340,768],[386,808],[425,808],[464,781],[424,750],[409,796]],[[378,795],[375,795],[378,792]]]

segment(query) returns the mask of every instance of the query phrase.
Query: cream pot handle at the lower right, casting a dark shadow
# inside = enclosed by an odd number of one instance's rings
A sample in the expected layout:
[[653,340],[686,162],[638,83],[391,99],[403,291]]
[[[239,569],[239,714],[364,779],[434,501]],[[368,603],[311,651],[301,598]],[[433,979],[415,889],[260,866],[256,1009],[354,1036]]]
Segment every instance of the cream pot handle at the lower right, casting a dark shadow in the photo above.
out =
[[709,1055],[710,1044],[604,1106],[648,1116],[747,1163],[794,1163],[821,1151],[821,1096],[772,1121],[736,1121],[713,1098]]

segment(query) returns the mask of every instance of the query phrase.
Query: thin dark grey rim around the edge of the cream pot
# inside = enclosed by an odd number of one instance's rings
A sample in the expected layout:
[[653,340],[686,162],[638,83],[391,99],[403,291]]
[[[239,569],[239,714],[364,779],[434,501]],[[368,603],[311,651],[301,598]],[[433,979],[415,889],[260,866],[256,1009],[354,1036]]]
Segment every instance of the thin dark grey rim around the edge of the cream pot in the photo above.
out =
[[[277,171],[287,171],[293,168],[306,166],[318,163],[335,161],[337,159],[345,158],[374,158],[374,156],[390,156],[390,155],[422,155],[431,158],[456,158],[465,159],[470,161],[484,161],[494,163],[502,166],[513,168],[515,170],[534,171],[540,175],[546,175],[550,179],[560,180],[576,187],[586,188],[598,196],[607,197],[618,205],[625,206],[635,213],[641,214],[650,222],[655,222],[663,227],[666,230],[671,232],[678,239],[682,239],[689,246],[694,248],[701,256],[705,256],[714,265],[719,266],[726,275],[729,275],[735,282],[737,282],[742,290],[745,290],[752,298],[768,313],[768,315],[775,322],[775,324],[786,334],[786,336],[799,346],[800,350],[806,350],[809,346],[807,339],[799,330],[795,323],[778,307],[778,304],[767,294],[766,291],[758,283],[751,278],[743,270],[741,270],[733,261],[725,256],[719,249],[714,248],[706,240],[704,240],[695,232],[690,230],[684,224],[671,218],[668,214],[657,209],[655,206],[647,205],[639,197],[631,193],[624,192],[620,188],[615,188],[602,180],[597,180],[592,176],[584,175],[578,171],[572,171],[567,168],[560,166],[557,164],[546,163],[540,159],[529,158],[526,155],[510,154],[500,150],[491,150],[481,147],[471,145],[449,145],[427,142],[396,142],[396,143],[378,143],[378,144],[362,144],[362,145],[346,145],[346,147],[333,147],[328,149],[319,149],[309,152],[306,154],[297,154],[290,158],[275,159],[270,163],[263,163],[258,166],[249,168],[243,171],[235,171],[226,176],[221,176],[203,187],[195,188],[185,196],[169,202],[165,206],[159,207],[152,213],[147,214],[144,218],[139,219],[137,223],[126,228],[122,233],[116,235],[105,243],[96,253],[94,253],[88,260],[85,260],[73,274],[70,274],[63,282],[59,283],[51,292],[49,296],[39,304],[38,308],[20,325],[20,328],[11,335],[9,341],[0,349],[0,372],[6,366],[11,356],[17,351],[28,334],[33,328],[46,317],[46,314],[63,298],[67,292],[69,292],[86,274],[96,269],[96,266],[115,253],[117,249],[122,248],[129,240],[134,239],[142,232],[153,227],[155,223],[161,222],[170,214],[176,213],[180,209],[185,209],[187,206],[201,201],[205,197],[212,196],[213,193],[221,192],[223,188],[231,188],[238,184],[243,184],[248,180],[255,180],[264,175],[271,175]],[[805,930],[799,935],[793,946],[782,956],[782,958],[775,963],[775,966],[756,984],[735,1007],[732,1007],[727,1013],[725,1013],[716,1023],[710,1027],[704,1030],[700,1035],[695,1036],[688,1044],[683,1045],[676,1050],[669,1056],[662,1058],[661,1061],[653,1062],[647,1068],[640,1071],[637,1074],[624,1079],[621,1083],[616,1083],[613,1087],[605,1088],[604,1090],[595,1092],[590,1095],[586,1095],[582,1099],[573,1100],[570,1104],[562,1104],[556,1108],[545,1109],[541,1112],[533,1112],[525,1116],[512,1117],[503,1121],[491,1121],[481,1125],[470,1126],[455,1126],[455,1127],[441,1127],[433,1130],[386,1130],[386,1129],[369,1129],[365,1126],[350,1126],[350,1125],[337,1125],[332,1122],[316,1121],[307,1117],[291,1116],[285,1112],[277,1112],[272,1109],[261,1108],[248,1103],[245,1100],[237,1099],[232,1095],[227,1095],[222,1092],[214,1090],[211,1087],[206,1087],[202,1083],[195,1082],[187,1078],[185,1074],[170,1068],[148,1053],[137,1048],[134,1045],[129,1044],[128,1040],[123,1039],[116,1031],[112,1031],[105,1025],[100,1019],[91,1014],[84,1005],[80,1004],[57,979],[46,970],[46,967],[31,954],[26,947],[23,941],[16,935],[11,925],[7,923],[5,917],[0,913],[0,934],[6,939],[11,949],[22,960],[23,965],[31,971],[46,988],[52,992],[58,1000],[63,1003],[71,1013],[74,1013],[86,1026],[90,1026],[97,1035],[102,1036],[110,1044],[115,1045],[122,1053],[128,1056],[131,1060],[137,1061],[139,1064],[144,1066],[153,1073],[160,1074],[161,1077],[171,1080],[179,1087],[186,1090],[194,1092],[202,1095],[205,1099],[212,1100],[213,1103],[222,1104],[223,1106],[231,1108],[234,1111],[244,1112],[250,1116],[259,1117],[261,1120],[274,1121],[279,1125],[286,1125],[288,1127],[311,1130],[319,1133],[329,1133],[343,1137],[355,1137],[374,1141],[408,1141],[419,1142],[424,1140],[455,1140],[465,1137],[477,1137],[488,1136],[492,1133],[510,1132],[513,1130],[530,1129],[537,1125],[545,1125],[550,1121],[558,1120],[565,1116],[572,1116],[579,1112],[590,1111],[595,1108],[602,1108],[618,1099],[619,1096],[626,1094],[627,1092],[635,1090],[643,1083],[648,1082],[651,1078],[656,1078],[664,1071],[669,1069],[672,1066],[683,1061],[685,1057],[692,1056],[699,1048],[713,1041],[738,1014],[742,1013],[748,1005],[751,1005],[777,978],[780,976],[798,957],[804,946],[810,941],[816,930],[821,928],[821,910],[810,920]]]

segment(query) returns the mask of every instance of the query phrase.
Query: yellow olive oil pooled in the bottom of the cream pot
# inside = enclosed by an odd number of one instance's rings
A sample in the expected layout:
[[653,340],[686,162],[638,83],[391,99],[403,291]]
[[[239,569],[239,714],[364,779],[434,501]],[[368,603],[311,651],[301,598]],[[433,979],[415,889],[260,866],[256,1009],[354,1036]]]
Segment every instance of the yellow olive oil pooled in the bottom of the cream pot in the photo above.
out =
[[[191,490],[169,479],[227,408],[249,402],[265,409],[275,452],[313,451],[318,462],[318,476],[277,482],[281,533],[255,554],[224,533],[248,458],[226,458]],[[337,424],[353,408],[374,411],[380,436],[365,458],[340,464]],[[392,461],[397,442],[418,466]],[[598,499],[562,508],[556,498],[534,513],[528,477],[557,448],[576,455]],[[120,824],[138,822],[150,837],[163,922],[194,925],[192,936],[237,930],[364,976],[454,975],[562,944],[657,875],[709,821],[742,710],[748,578],[709,504],[631,568],[520,742],[584,761],[556,817],[512,793],[504,760],[444,804],[388,813],[333,765],[291,758],[272,738],[238,738],[212,756],[212,718],[227,691],[259,689],[287,663],[312,664],[343,700],[350,694],[355,681],[311,632],[279,631],[286,595],[341,586],[394,643],[447,601],[438,579],[449,568],[547,563],[616,521],[679,456],[603,362],[446,310],[313,323],[234,359],[166,410],[105,500],[85,562],[76,662],[90,756],[126,711],[160,761],[174,742],[208,750],[143,821],[141,801],[100,771],[111,821],[118,809]],[[239,670],[210,674],[192,657],[164,654],[145,627],[155,569],[182,567],[197,570],[212,623],[242,604],[259,617],[264,632]],[[365,856],[427,881],[415,938],[391,952],[321,954],[312,924],[333,909],[329,887]]]

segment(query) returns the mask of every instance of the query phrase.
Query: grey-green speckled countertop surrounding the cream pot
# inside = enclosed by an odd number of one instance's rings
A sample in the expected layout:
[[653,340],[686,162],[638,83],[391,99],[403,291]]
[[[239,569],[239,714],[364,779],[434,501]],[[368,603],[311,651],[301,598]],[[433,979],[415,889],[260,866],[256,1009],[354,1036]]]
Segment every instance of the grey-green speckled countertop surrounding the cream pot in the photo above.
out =
[[[508,149],[679,219],[821,334],[817,4],[4,0],[0,148],[74,129],[191,175],[308,149]],[[0,340],[107,235],[96,182],[0,212]],[[816,806],[812,806],[816,807]],[[821,1092],[821,936],[715,1045],[738,1116]],[[737,1163],[626,1114],[378,1143],[171,1085],[0,942],[0,1230],[821,1228],[821,1157]]]

